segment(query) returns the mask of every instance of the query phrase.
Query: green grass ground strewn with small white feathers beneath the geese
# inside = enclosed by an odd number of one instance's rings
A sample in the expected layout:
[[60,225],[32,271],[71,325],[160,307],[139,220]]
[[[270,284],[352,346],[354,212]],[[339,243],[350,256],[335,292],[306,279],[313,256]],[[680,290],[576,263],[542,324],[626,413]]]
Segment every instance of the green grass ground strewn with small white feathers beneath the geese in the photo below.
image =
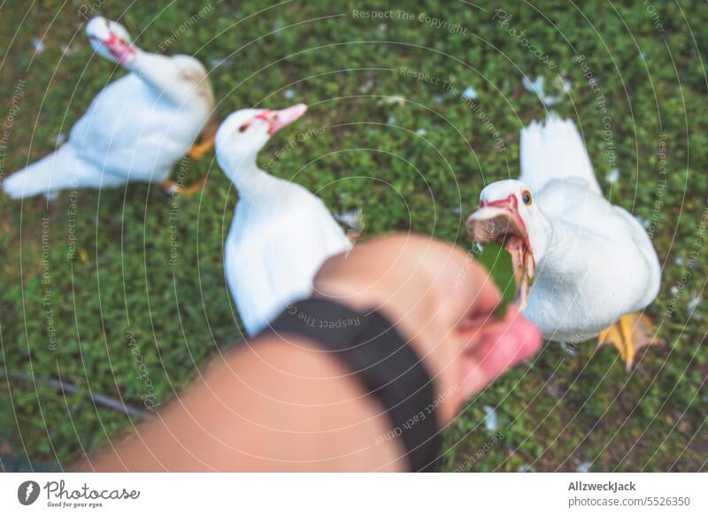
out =
[[[121,19],[145,50],[156,50],[206,5],[118,4],[105,3],[100,13]],[[560,1],[542,2],[537,11],[512,2],[426,4],[429,16],[459,23],[466,34],[419,21],[415,4],[292,2],[260,13],[266,3],[213,4],[167,52],[195,54],[212,70],[222,116],[255,104],[310,104],[304,119],[273,138],[261,164],[301,132],[323,127],[275,160],[273,173],[300,171],[296,181],[318,191],[335,212],[361,208],[365,237],[411,229],[467,246],[464,220],[482,186],[518,173],[519,130],[544,116],[543,104],[523,89],[523,74],[570,81],[570,94],[554,110],[581,126],[605,191],[643,219],[656,216],[653,242],[665,268],[649,313],[666,347],[644,353],[627,374],[616,353],[596,350],[595,343],[582,344],[575,356],[545,345],[467,405],[446,433],[442,468],[573,471],[591,462],[592,471],[706,469],[708,227],[696,240],[708,196],[704,4],[656,2],[663,33],[643,2],[576,3],[582,11]],[[13,89],[26,82],[2,173],[50,152],[96,92],[123,73],[100,58],[89,62],[80,6],[48,0],[26,17],[26,3],[4,4],[3,120]],[[512,14],[507,29],[526,30],[556,66],[500,27],[492,19],[497,8]],[[371,9],[404,9],[416,19],[353,16]],[[45,50],[33,57],[31,40],[42,35]],[[63,56],[64,44],[75,54]],[[614,164],[604,115],[576,55],[585,56],[604,94]],[[404,77],[402,67],[429,73],[439,84]],[[479,92],[476,103],[459,99],[468,86]],[[387,103],[389,96],[406,102]],[[492,126],[485,127],[479,112]],[[416,134],[419,129],[425,134]],[[496,147],[493,130],[501,138]],[[660,135],[666,135],[667,182],[655,210]],[[605,176],[615,167],[620,179],[610,185]],[[209,182],[203,196],[176,206],[174,266],[172,199],[157,188],[82,190],[50,204],[0,200],[0,344],[2,367],[13,375],[0,380],[4,468],[56,467],[105,445],[139,418],[96,408],[89,391],[138,407],[146,396],[162,403],[239,337],[222,273],[235,191],[212,158],[189,169],[188,181],[208,174]],[[67,259],[71,225],[80,252]],[[691,318],[695,297],[702,301]],[[64,396],[17,375],[60,378],[79,391]],[[485,428],[485,405],[496,407],[497,430]]]

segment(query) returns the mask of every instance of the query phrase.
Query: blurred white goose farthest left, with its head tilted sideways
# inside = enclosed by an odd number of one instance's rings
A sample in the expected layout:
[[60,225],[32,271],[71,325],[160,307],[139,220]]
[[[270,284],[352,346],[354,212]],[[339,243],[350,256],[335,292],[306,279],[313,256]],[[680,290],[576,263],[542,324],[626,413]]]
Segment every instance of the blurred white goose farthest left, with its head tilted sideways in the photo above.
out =
[[[130,73],[101,90],[53,154],[12,174],[3,184],[11,197],[62,189],[106,188],[127,181],[168,181],[212,115],[214,97],[204,66],[195,58],[144,52],[115,21],[94,18],[89,42],[104,58]],[[197,158],[210,146],[193,148]]]

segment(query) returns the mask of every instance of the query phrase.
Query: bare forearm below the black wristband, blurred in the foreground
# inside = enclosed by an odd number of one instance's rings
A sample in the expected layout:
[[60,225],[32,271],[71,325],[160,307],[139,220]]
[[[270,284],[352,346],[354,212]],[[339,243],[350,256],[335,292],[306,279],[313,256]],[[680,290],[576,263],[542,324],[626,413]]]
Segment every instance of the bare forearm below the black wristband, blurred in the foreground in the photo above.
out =
[[390,422],[311,343],[269,337],[217,359],[158,420],[81,469],[402,470]]

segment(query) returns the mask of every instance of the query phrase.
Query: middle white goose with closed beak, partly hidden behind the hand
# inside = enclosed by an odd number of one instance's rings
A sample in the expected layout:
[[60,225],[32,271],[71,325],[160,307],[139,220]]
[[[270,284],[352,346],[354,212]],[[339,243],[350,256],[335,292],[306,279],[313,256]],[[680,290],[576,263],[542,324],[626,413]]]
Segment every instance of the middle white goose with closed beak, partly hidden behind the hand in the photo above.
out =
[[310,296],[322,263],[351,248],[319,197],[256,164],[271,135],[306,110],[304,104],[281,111],[241,110],[216,135],[219,166],[239,192],[224,267],[249,335],[266,327],[289,303]]

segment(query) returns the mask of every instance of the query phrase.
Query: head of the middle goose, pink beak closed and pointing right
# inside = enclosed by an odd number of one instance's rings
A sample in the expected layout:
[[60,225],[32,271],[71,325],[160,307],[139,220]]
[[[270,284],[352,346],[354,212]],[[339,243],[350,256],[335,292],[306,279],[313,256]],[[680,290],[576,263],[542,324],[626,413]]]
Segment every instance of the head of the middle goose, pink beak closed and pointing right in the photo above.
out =
[[280,111],[242,109],[230,114],[221,123],[214,142],[219,166],[227,173],[234,173],[244,165],[255,165],[258,152],[271,136],[306,111],[305,104],[295,104]]

